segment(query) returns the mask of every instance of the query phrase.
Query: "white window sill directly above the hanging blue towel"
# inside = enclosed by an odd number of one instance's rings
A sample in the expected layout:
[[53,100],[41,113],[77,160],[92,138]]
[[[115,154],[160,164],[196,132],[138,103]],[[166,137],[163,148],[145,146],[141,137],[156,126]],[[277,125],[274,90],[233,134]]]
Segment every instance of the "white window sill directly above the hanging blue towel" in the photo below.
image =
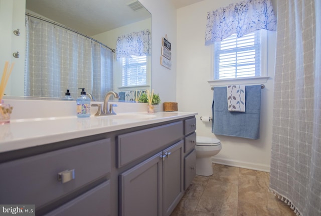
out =
[[229,84],[262,84],[266,83],[269,76],[255,76],[245,78],[216,79],[208,80],[211,86],[229,85]]

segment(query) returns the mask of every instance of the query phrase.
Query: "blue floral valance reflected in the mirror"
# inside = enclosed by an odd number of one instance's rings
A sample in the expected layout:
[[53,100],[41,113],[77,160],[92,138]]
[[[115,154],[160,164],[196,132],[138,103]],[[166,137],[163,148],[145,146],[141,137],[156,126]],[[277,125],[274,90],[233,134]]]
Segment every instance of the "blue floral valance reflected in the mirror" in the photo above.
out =
[[148,55],[151,53],[151,38],[148,29],[117,38],[116,57],[130,57],[131,55]]

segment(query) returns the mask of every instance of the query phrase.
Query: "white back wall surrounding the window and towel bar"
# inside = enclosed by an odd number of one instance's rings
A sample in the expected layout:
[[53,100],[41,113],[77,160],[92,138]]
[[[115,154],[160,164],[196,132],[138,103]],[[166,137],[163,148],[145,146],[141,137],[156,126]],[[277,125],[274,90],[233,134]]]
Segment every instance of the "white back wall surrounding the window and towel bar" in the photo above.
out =
[[[177,10],[177,101],[180,111],[195,111],[197,134],[221,140],[222,150],[212,161],[269,171],[272,139],[275,32],[269,33],[268,76],[261,96],[260,139],[215,135],[200,116],[212,116],[213,45],[205,46],[207,12],[239,0],[203,0]],[[276,4],[274,4],[276,5]]]

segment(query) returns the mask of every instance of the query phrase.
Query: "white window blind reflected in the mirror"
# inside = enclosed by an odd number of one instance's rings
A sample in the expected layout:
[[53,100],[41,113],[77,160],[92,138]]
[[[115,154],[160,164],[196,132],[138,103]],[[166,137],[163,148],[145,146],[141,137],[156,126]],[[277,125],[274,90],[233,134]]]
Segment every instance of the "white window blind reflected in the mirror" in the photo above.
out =
[[145,85],[147,56],[131,55],[122,58],[122,86]]

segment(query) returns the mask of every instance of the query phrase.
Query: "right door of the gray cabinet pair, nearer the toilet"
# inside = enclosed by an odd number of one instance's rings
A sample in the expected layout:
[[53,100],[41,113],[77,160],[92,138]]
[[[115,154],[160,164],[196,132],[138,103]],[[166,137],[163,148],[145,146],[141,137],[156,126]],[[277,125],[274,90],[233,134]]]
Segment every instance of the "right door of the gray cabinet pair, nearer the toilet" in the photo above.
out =
[[164,160],[164,215],[170,215],[183,196],[183,143],[165,149]]

